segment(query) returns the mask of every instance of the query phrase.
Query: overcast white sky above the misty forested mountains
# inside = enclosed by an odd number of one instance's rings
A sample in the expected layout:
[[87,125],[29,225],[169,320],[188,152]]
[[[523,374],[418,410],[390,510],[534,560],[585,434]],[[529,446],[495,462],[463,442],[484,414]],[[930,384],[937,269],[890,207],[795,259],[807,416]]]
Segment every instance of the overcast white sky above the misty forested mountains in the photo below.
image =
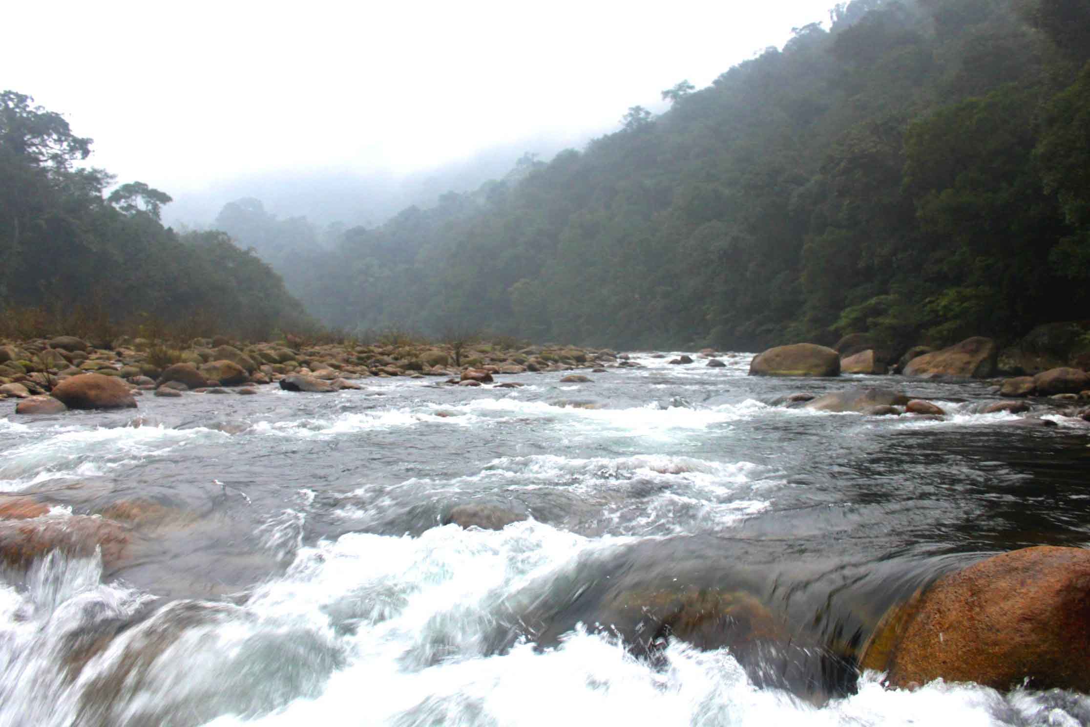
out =
[[7,3],[0,87],[175,196],[283,169],[403,173],[619,125],[835,0]]

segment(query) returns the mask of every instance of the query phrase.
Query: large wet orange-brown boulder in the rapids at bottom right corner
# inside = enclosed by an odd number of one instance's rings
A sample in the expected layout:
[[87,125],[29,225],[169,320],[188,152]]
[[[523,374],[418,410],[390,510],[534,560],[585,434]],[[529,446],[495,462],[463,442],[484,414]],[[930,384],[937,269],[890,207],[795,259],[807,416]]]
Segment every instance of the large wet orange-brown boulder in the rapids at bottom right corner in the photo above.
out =
[[883,619],[861,666],[934,679],[1090,691],[1090,550],[1033,547],[948,574]]

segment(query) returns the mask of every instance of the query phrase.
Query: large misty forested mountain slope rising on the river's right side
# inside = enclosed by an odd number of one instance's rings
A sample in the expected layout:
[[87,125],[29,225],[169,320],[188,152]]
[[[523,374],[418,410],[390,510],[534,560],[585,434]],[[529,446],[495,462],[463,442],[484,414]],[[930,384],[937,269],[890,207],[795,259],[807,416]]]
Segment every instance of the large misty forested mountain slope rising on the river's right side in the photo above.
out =
[[317,256],[348,328],[760,348],[1010,338],[1090,278],[1090,5],[855,0],[670,110]]

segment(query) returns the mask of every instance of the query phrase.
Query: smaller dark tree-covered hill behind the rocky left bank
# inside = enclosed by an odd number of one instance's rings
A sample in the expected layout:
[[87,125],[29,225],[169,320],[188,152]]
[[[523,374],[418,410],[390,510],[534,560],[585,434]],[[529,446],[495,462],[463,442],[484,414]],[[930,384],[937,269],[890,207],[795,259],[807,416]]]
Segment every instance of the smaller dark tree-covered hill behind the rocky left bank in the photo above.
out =
[[[170,196],[142,182],[112,190],[80,168],[92,140],[15,92],[0,94],[0,308],[61,319],[184,324],[194,334],[265,338],[311,324],[283,281],[222,232],[178,234]],[[57,331],[74,332],[74,331]]]

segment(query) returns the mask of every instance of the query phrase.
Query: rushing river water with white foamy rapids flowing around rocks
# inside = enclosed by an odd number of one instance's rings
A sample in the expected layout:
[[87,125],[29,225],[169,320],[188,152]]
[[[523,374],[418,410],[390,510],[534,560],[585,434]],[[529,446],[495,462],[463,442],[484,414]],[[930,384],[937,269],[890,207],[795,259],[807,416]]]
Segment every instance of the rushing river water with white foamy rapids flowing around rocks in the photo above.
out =
[[[0,725],[1090,724],[1083,695],[889,691],[853,662],[942,573],[1090,542],[1085,423],[1006,426],[972,413],[985,384],[899,378],[877,383],[950,415],[815,413],[763,402],[860,377],[634,360],[0,420],[0,492],[56,520],[143,508],[121,558],[5,572]],[[468,504],[529,520],[440,524]],[[641,633],[686,589],[791,638]]]

